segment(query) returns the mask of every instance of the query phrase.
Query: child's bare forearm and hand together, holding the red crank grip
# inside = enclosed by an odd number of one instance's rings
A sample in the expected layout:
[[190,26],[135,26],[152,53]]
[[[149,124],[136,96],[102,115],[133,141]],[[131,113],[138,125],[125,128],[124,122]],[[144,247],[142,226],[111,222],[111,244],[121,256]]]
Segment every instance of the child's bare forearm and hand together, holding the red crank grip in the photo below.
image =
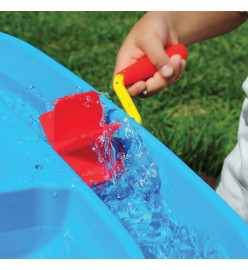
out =
[[114,75],[144,55],[158,72],[146,82],[140,81],[128,90],[132,97],[147,90],[151,96],[176,82],[182,75],[185,62],[179,55],[168,58],[165,45],[189,45],[232,31],[247,16],[239,12],[148,12],[131,29],[116,59]]

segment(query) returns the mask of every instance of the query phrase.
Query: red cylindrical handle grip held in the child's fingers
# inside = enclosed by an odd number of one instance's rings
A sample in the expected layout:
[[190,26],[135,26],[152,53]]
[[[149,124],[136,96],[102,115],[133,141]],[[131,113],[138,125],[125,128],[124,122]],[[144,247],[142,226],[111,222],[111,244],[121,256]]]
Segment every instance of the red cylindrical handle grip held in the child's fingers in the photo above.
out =
[[[171,57],[174,54],[181,55],[182,59],[186,60],[188,53],[183,44],[177,44],[165,48],[166,54]],[[147,56],[144,56],[131,66],[123,69],[118,74],[123,75],[124,85],[131,85],[138,81],[146,80],[153,76],[157,68],[150,62]]]

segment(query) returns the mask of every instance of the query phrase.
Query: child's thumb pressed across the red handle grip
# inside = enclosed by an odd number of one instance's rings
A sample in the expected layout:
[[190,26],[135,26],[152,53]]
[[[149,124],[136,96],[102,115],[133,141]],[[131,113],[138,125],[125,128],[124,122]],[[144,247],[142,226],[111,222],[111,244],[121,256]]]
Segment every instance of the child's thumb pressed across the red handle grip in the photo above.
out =
[[173,74],[170,58],[166,54],[163,43],[158,36],[154,37],[152,41],[143,44],[143,50],[164,78],[168,78]]

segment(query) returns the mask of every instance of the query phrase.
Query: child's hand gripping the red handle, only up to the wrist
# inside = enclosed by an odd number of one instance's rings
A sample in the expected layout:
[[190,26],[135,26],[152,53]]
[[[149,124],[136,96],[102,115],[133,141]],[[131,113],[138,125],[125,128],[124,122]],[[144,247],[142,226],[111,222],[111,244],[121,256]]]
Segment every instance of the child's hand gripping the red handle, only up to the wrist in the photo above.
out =
[[[148,12],[132,28],[122,44],[116,59],[114,76],[122,69],[147,55],[158,72],[147,81],[133,84],[128,91],[132,97],[148,97],[176,82],[182,75],[185,61],[180,55],[171,58],[164,51],[165,45],[178,44],[173,25],[162,12]],[[147,94],[142,92],[146,90]]]

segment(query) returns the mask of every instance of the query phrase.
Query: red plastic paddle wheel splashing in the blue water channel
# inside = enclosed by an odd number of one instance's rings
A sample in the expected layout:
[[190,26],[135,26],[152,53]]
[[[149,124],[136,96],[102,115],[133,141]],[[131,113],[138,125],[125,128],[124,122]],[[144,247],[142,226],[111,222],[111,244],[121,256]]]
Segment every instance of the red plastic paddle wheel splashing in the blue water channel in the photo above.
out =
[[110,156],[113,132],[121,124],[106,124],[96,92],[60,98],[40,122],[54,150],[87,185],[106,182],[123,169],[122,161]]

